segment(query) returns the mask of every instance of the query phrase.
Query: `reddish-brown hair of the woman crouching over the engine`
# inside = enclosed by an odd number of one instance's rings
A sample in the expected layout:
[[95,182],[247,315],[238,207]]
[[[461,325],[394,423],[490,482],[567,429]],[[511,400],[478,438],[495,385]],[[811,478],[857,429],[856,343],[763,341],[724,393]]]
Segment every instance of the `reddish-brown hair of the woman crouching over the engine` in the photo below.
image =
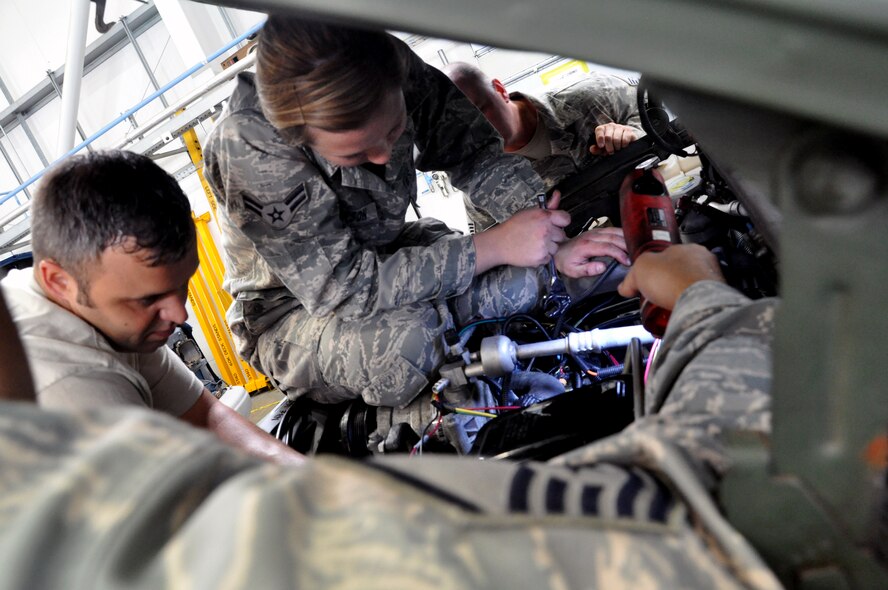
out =
[[406,46],[381,31],[272,14],[256,52],[262,112],[297,144],[307,126],[357,129],[388,92],[403,88],[408,55]]

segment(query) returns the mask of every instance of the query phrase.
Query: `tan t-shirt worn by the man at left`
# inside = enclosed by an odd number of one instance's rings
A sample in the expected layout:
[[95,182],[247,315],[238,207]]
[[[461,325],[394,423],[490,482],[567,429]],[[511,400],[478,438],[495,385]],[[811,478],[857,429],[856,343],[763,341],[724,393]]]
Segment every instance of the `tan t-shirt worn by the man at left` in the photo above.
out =
[[11,271],[0,285],[42,406],[135,405],[181,416],[203,391],[166,346],[151,353],[114,350],[92,325],[47,299],[31,269]]

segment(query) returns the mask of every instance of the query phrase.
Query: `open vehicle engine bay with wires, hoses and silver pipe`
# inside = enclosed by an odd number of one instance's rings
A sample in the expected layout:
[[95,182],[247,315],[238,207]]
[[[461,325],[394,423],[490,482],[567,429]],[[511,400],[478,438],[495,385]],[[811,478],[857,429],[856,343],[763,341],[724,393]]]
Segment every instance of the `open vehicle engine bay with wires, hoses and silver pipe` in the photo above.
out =
[[[712,251],[728,283],[749,298],[777,295],[777,256],[742,193],[644,80],[638,105],[646,135],[556,187],[561,208],[571,214],[568,236],[621,227],[627,176],[640,168],[665,170],[684,158],[699,165],[668,189],[678,239]],[[605,262],[598,276],[559,280],[557,294],[550,288],[533,313],[482,318],[448,331],[438,381],[404,408],[360,399],[335,405],[285,399],[260,426],[306,453],[512,460],[548,459],[619,432],[643,411],[659,340],[641,326],[638,298],[617,293],[628,267]]]

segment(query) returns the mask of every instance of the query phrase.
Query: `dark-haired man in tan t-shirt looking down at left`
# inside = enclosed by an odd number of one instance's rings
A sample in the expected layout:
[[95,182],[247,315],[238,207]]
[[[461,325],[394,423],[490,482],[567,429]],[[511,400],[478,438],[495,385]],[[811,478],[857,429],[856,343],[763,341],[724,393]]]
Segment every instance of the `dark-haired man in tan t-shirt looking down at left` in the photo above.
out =
[[75,156],[31,208],[33,271],[2,281],[38,401],[163,411],[277,462],[302,456],[219,402],[165,345],[198,265],[178,184],[131,152]]

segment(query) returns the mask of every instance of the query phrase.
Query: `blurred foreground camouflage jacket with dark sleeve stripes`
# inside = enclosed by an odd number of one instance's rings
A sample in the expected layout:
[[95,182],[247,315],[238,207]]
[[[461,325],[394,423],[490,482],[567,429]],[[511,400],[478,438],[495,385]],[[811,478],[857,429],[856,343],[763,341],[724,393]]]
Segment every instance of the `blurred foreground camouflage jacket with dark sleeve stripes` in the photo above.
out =
[[679,305],[662,410],[560,465],[285,469],[157,413],[0,402],[0,590],[778,588],[705,489],[723,431],[769,431],[775,303]]

